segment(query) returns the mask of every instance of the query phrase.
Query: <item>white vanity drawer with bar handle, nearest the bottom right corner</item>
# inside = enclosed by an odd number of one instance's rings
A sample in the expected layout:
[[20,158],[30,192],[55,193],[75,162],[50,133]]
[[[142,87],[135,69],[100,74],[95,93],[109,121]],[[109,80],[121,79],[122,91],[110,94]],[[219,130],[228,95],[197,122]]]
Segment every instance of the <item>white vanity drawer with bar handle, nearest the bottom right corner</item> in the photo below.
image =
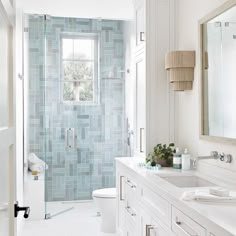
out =
[[172,231],[179,236],[206,236],[206,229],[172,206]]

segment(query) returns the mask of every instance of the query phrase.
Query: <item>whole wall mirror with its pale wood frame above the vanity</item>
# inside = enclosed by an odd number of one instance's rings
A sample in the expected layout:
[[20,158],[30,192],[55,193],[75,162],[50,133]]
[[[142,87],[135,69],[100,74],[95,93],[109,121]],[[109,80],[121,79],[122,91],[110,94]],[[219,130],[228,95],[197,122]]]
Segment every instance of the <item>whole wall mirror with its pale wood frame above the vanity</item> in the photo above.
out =
[[236,144],[236,0],[199,26],[201,138]]

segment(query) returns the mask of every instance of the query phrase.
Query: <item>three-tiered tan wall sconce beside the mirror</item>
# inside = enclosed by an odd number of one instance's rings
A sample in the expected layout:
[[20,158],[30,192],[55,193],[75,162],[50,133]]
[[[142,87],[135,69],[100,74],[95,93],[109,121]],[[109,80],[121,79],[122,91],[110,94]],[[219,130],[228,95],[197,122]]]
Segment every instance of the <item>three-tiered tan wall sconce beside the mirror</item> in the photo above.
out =
[[165,57],[165,69],[170,72],[174,91],[191,90],[193,87],[195,51],[172,51]]

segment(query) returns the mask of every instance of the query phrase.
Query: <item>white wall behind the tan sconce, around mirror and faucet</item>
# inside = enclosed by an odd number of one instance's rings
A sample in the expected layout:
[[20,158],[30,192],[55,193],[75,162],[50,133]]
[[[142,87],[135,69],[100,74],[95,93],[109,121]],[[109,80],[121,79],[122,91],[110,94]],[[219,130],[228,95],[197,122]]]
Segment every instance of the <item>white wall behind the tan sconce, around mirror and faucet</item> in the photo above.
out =
[[[178,49],[196,50],[199,60],[198,20],[213,11],[226,0],[179,0],[178,4]],[[236,160],[236,146],[207,142],[199,138],[199,64],[195,68],[193,90],[175,94],[175,141],[187,147],[194,156],[208,155],[212,150],[231,153]],[[236,182],[236,161],[225,164],[221,161],[201,161],[199,170],[217,178]]]

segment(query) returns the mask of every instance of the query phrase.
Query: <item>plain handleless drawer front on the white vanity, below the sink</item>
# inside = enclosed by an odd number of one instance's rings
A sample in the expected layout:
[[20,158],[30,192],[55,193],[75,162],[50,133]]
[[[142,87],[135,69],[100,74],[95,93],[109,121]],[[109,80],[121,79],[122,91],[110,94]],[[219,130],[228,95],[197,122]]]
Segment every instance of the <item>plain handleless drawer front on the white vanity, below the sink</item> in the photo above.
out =
[[171,227],[171,205],[147,186],[142,186],[141,203],[153,212],[163,223]]

